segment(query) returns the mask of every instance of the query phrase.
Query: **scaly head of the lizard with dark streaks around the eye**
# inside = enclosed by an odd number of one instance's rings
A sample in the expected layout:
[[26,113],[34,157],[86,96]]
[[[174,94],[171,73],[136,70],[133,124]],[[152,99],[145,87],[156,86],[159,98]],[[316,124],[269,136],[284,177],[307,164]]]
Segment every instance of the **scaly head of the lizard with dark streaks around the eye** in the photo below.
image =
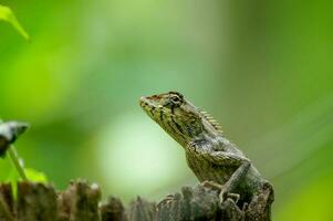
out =
[[139,105],[180,145],[199,137],[209,127],[202,112],[178,92],[144,96]]

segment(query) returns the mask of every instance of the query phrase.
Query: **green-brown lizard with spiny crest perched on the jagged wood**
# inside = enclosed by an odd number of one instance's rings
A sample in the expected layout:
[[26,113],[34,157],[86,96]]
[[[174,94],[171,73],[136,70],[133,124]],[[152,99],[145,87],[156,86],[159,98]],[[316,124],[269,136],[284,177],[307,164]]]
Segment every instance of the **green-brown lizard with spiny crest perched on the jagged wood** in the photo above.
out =
[[259,212],[270,210],[272,186],[206,112],[178,92],[142,97],[139,105],[181,145],[199,181],[219,189],[221,203],[230,198],[243,210],[249,206]]

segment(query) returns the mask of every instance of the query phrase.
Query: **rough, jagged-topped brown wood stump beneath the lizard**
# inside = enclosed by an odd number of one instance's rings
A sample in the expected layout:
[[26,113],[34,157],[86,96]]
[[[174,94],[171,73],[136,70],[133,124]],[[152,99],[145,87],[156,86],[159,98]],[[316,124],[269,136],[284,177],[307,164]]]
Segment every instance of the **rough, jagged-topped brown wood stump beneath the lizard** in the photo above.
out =
[[[258,213],[256,204],[242,211],[231,200],[219,202],[218,192],[198,185],[183,187],[159,203],[137,197],[127,208],[117,198],[101,203],[97,185],[71,182],[65,191],[52,186],[20,182],[18,199],[11,186],[0,186],[0,221],[269,221],[270,204]],[[264,192],[262,196],[267,196]],[[261,197],[261,196],[259,196]]]

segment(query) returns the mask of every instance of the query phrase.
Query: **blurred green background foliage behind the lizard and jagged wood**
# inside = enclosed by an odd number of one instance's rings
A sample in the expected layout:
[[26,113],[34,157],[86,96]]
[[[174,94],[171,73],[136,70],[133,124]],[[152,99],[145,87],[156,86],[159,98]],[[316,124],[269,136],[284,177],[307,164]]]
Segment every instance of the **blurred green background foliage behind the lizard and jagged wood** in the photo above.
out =
[[[150,200],[195,185],[138,97],[179,91],[275,188],[273,218],[333,220],[332,1],[3,0],[0,115],[27,167]],[[0,178],[10,171],[0,160]]]

